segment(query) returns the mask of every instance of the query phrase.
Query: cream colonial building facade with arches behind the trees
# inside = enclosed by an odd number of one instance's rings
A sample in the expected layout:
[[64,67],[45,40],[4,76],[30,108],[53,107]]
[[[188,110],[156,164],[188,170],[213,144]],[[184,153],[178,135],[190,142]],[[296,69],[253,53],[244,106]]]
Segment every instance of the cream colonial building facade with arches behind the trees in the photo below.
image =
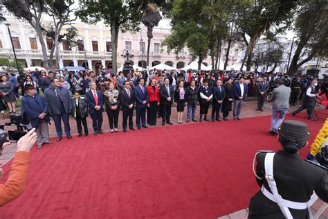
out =
[[[15,47],[17,59],[26,67],[41,66],[42,49],[39,42],[39,38],[35,30],[26,21],[20,21],[10,14],[6,15],[6,23],[10,24],[10,32],[12,35],[12,42]],[[46,23],[47,21],[45,21]],[[51,24],[50,22],[48,22]],[[74,24],[78,30],[77,42],[78,46],[73,49],[69,49],[65,40],[60,44],[60,60],[59,67],[66,66],[82,66],[89,67],[94,71],[102,67],[112,67],[112,53],[111,53],[111,33],[110,28],[104,24],[89,25],[80,21],[76,21]],[[64,26],[62,33],[66,33]],[[156,64],[164,63],[175,67],[177,69],[187,66],[192,62],[192,58],[189,55],[188,49],[182,49],[178,54],[168,52],[165,47],[162,46],[165,37],[170,35],[170,26],[160,25],[154,28],[154,37],[150,44],[149,53],[149,67],[153,67]],[[147,60],[147,28],[140,25],[140,31],[138,33],[120,33],[118,37],[118,67],[122,67],[125,58],[122,55],[129,52],[134,55],[131,60],[134,65],[138,67],[146,67]],[[46,37],[44,34],[44,42],[50,54],[51,48],[54,46],[53,40]],[[221,53],[221,62],[224,62],[224,49]],[[242,51],[239,49],[239,45],[234,44],[230,49],[228,66],[233,65],[239,53]],[[10,43],[10,36],[7,26],[0,24],[0,57],[6,57],[10,60],[13,59],[12,45]],[[54,60],[55,63],[55,60]],[[203,60],[203,64],[210,65],[210,58]],[[221,65],[221,64],[220,64]]]

